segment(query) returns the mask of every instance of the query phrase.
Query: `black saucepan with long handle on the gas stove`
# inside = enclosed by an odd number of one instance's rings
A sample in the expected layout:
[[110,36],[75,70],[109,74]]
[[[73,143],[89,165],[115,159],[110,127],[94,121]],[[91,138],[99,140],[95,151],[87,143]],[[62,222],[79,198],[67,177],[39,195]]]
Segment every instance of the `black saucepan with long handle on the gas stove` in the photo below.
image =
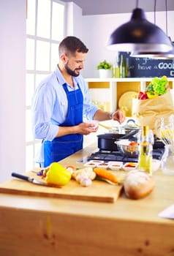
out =
[[97,135],[98,137],[98,148],[107,151],[118,151],[118,146],[115,143],[116,140],[129,139],[136,140],[134,135],[137,134],[139,129],[134,129],[131,132],[125,134],[116,134],[116,133],[105,133],[102,135]]

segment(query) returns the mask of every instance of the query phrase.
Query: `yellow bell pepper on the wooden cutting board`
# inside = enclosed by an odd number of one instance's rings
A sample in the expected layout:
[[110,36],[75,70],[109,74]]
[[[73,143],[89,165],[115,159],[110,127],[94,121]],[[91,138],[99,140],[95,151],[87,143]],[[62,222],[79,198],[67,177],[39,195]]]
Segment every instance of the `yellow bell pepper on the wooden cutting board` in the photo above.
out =
[[53,162],[50,164],[49,170],[45,181],[48,184],[55,184],[58,186],[64,186],[68,184],[71,179],[71,173],[69,170],[65,169],[63,166],[58,164],[58,162]]

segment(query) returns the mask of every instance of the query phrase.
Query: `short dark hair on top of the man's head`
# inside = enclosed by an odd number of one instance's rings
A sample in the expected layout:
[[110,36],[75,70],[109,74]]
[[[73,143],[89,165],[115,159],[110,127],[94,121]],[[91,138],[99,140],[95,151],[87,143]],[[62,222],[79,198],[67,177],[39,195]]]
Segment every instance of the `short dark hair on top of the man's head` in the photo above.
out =
[[62,53],[75,56],[76,51],[78,53],[88,53],[86,45],[77,37],[65,37],[58,47],[59,56],[61,56]]

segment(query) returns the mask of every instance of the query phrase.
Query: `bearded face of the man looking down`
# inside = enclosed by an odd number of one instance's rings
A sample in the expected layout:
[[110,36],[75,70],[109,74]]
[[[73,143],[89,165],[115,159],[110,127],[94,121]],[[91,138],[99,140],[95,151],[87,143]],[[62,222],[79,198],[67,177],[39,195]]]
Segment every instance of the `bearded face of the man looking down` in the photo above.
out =
[[84,68],[84,61],[86,59],[86,53],[76,52],[75,56],[69,56],[64,64],[64,68],[69,75],[77,77],[80,75],[80,70]]

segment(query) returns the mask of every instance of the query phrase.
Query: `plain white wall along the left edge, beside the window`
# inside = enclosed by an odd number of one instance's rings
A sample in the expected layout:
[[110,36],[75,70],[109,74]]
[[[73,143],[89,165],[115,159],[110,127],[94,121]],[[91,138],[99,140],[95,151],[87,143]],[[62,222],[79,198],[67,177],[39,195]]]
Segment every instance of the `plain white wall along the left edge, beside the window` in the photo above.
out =
[[0,183],[25,171],[26,1],[0,1]]

